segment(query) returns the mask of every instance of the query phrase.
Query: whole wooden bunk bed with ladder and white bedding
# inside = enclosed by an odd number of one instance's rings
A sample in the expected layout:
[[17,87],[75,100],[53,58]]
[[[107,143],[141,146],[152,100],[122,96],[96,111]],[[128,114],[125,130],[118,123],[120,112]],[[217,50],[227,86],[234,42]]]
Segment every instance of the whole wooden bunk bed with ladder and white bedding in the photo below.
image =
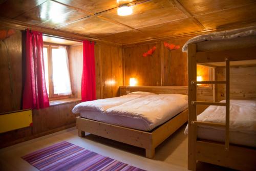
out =
[[[255,170],[255,111],[247,119],[247,110],[255,110],[255,101],[230,100],[230,67],[256,65],[256,27],[236,29],[218,33],[210,33],[190,39],[183,47],[188,52],[188,169],[196,170],[197,161],[221,165],[238,170]],[[224,67],[225,80],[197,81],[197,64],[212,68]],[[197,84],[224,84],[225,101],[202,102],[197,99]],[[244,87],[236,88],[243,91]],[[218,89],[215,89],[218,94]],[[254,91],[253,91],[254,92]],[[251,92],[250,99],[256,98]],[[230,96],[231,94],[231,96]],[[240,96],[243,100],[248,100]],[[251,103],[250,106],[243,106]],[[197,106],[210,105],[197,117]],[[236,107],[238,113],[232,109]],[[242,107],[242,108],[240,108]],[[243,115],[241,115],[243,114]],[[221,119],[216,119],[221,116]],[[243,130],[238,126],[234,129],[234,116],[237,122],[251,126]],[[218,118],[218,117],[217,117]]]

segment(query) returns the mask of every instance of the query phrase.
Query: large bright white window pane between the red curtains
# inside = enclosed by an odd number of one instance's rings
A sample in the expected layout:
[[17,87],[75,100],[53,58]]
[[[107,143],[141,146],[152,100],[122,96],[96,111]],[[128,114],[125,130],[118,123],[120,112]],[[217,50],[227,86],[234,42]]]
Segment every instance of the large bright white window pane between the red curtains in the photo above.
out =
[[66,48],[52,49],[54,94],[71,94]]

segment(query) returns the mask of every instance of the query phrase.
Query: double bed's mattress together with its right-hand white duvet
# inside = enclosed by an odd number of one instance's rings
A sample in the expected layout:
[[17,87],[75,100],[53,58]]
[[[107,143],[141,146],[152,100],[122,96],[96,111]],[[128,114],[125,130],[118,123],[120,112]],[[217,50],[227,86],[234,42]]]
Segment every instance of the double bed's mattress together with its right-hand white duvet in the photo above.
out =
[[83,110],[81,117],[104,123],[151,131],[187,109],[187,96],[180,94],[148,95],[104,112]]

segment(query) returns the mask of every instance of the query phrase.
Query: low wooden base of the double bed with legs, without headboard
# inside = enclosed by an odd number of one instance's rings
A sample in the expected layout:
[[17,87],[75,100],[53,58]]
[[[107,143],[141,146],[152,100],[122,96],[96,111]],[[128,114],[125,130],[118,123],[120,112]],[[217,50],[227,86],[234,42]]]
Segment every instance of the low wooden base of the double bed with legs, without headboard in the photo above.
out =
[[145,148],[147,158],[153,158],[155,155],[155,148],[186,122],[187,110],[179,113],[151,132],[76,117],[76,126],[79,137],[83,137],[85,133],[88,132],[104,138]]

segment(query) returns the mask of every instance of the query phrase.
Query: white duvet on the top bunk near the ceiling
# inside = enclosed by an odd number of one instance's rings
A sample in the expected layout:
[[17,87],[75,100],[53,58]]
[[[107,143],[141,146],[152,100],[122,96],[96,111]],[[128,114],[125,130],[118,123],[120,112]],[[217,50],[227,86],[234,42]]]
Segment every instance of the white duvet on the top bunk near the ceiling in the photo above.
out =
[[191,43],[196,43],[196,42],[201,42],[206,40],[226,40],[226,39],[244,37],[249,35],[256,35],[255,26],[199,35],[189,39],[182,47],[182,52],[187,52],[187,45]]

